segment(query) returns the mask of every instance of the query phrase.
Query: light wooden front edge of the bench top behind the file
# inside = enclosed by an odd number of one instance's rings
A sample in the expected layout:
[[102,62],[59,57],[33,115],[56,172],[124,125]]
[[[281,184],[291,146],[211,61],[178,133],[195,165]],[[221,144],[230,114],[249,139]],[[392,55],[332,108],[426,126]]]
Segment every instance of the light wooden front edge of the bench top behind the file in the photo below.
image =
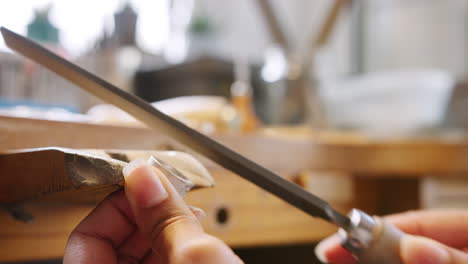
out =
[[[279,173],[303,169],[369,175],[468,172],[468,141],[352,141],[287,139],[264,135],[212,135],[224,145]],[[0,151],[60,146],[77,149],[183,149],[144,128],[0,116]]]

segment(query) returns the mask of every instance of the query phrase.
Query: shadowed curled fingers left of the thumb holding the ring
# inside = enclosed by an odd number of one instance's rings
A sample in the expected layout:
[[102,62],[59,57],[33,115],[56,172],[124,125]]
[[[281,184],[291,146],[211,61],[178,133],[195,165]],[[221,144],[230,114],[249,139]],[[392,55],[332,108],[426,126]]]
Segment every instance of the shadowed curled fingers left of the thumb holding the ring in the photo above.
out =
[[115,263],[115,248],[135,230],[122,191],[102,201],[72,232],[64,263]]

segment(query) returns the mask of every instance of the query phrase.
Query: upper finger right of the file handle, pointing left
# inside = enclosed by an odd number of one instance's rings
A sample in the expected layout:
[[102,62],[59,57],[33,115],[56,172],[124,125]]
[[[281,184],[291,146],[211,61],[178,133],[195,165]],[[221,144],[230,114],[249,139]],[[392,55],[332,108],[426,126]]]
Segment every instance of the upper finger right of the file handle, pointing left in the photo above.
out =
[[386,217],[403,232],[432,238],[454,248],[468,246],[468,211],[431,210],[406,212]]

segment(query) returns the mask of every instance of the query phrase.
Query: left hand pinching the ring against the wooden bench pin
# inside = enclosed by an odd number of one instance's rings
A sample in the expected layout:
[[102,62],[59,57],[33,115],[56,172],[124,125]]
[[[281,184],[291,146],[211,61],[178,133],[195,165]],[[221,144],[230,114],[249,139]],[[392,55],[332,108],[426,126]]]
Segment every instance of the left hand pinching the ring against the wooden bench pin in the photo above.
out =
[[241,264],[206,234],[164,174],[142,165],[124,191],[102,201],[72,232],[64,263]]

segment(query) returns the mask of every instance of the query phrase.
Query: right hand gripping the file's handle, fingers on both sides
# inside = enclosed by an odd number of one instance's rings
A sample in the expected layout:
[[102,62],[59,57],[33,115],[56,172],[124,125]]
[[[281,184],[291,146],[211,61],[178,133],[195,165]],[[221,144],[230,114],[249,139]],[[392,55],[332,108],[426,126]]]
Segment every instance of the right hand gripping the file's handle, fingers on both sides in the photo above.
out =
[[[385,217],[406,234],[400,242],[405,264],[468,263],[468,211],[412,211]],[[320,260],[332,264],[354,264],[354,257],[340,246],[334,235],[316,247]]]

